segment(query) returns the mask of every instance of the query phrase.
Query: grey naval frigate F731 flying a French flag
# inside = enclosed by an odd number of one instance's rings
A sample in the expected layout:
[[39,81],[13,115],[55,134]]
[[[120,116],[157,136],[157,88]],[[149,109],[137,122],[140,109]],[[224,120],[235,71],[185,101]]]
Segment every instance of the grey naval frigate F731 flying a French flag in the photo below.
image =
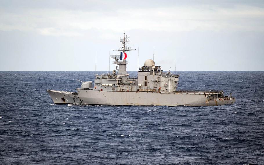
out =
[[[55,104],[88,105],[162,105],[162,106],[217,106],[235,103],[232,93],[224,96],[223,90],[193,91],[177,90],[179,75],[163,72],[151,59],[138,70],[138,78],[130,78],[126,71],[126,44],[129,37],[120,38],[122,46],[115,59],[113,73],[96,75],[92,81],[82,82],[77,92],[47,90]],[[124,54],[124,59],[122,58]],[[79,80],[80,81],[80,80]]]

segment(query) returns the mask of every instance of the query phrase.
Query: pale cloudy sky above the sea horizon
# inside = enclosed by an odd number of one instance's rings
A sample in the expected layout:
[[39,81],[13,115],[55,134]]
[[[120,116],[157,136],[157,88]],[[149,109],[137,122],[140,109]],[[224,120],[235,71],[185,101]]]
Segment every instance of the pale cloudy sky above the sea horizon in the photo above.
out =
[[0,0],[0,71],[112,71],[124,31],[128,71],[264,70],[263,0]]

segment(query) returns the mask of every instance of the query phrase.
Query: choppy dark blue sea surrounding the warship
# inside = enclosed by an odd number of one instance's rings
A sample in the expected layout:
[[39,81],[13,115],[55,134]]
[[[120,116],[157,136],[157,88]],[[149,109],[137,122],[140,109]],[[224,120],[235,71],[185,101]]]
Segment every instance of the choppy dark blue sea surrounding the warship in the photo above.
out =
[[264,71],[178,73],[178,89],[223,89],[237,101],[54,105],[46,89],[75,91],[95,72],[0,72],[0,164],[263,164]]

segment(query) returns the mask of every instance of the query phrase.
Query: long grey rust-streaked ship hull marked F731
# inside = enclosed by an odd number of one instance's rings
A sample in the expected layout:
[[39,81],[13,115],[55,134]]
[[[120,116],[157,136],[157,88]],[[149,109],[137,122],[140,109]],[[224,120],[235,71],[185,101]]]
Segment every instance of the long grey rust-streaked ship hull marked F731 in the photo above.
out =
[[160,105],[160,106],[218,106],[234,104],[235,100],[207,100],[204,94],[156,93],[156,92],[117,92],[79,90],[78,94],[47,90],[55,104],[89,105]]

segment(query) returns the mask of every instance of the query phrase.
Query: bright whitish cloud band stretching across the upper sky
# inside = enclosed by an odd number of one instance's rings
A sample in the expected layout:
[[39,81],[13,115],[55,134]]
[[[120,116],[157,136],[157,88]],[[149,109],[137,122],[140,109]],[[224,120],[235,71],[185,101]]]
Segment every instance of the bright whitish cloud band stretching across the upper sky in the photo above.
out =
[[33,31],[41,35],[80,36],[83,31],[264,31],[264,9],[235,5],[118,8],[109,10],[70,10],[63,8],[25,8],[20,12],[0,12],[0,30]]

